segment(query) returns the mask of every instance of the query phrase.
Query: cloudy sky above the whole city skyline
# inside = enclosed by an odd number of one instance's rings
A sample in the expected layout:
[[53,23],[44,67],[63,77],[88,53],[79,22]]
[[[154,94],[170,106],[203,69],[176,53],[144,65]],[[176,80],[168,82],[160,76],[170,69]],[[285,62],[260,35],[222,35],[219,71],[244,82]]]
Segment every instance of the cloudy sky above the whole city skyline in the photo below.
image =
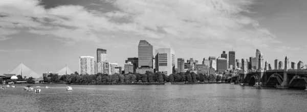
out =
[[[175,57],[201,62],[234,50],[236,59],[302,61],[307,48],[305,0],[2,0],[0,74],[20,61],[38,74],[65,64],[78,71],[80,56],[123,66],[138,57],[138,43],[172,48]],[[96,60],[96,59],[95,59]],[[176,64],[177,66],[177,64]]]

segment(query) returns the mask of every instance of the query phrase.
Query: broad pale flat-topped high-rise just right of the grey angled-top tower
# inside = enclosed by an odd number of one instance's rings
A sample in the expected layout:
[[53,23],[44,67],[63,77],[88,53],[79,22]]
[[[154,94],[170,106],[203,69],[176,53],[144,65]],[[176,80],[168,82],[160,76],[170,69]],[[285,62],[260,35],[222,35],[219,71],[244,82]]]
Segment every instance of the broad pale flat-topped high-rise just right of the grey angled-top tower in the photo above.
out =
[[[159,48],[156,50],[158,55],[158,71],[170,75],[175,69],[175,52],[171,48]],[[156,68],[157,70],[157,68]]]

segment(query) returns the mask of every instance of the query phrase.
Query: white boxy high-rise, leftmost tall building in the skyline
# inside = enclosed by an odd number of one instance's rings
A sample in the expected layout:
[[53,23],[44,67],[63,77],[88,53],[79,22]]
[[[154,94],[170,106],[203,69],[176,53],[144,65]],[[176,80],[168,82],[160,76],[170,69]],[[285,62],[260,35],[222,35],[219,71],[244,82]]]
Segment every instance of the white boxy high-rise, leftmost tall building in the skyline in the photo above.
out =
[[81,56],[79,57],[79,73],[80,74],[95,74],[94,57]]

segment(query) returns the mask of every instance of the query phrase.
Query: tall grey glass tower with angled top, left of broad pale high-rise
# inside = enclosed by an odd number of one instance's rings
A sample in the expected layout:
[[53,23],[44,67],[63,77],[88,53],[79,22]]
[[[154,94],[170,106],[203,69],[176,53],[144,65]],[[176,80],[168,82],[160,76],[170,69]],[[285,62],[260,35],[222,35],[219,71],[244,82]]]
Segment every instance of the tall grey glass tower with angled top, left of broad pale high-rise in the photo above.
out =
[[146,40],[140,40],[138,46],[139,54],[139,67],[151,67],[152,68],[152,45]]

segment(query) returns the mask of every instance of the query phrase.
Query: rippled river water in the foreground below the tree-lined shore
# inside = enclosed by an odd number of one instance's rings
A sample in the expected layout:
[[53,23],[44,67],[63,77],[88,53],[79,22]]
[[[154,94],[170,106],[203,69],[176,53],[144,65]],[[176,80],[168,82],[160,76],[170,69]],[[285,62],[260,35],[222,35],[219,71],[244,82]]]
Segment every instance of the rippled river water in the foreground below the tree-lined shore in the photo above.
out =
[[307,91],[226,83],[47,85],[41,93],[15,86],[0,90],[0,111],[307,111]]

